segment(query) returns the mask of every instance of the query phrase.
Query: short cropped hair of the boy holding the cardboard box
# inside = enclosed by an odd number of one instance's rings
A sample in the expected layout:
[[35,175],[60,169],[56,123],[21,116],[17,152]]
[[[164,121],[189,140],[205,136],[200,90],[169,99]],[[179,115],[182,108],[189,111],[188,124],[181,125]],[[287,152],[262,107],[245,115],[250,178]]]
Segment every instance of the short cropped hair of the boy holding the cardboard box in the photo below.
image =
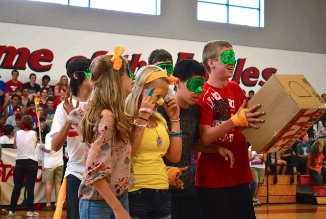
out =
[[220,50],[223,48],[230,48],[232,47],[231,43],[225,40],[213,40],[208,42],[203,47],[202,51],[202,59],[203,59],[203,65],[205,66],[208,73],[210,73],[210,68],[207,63],[209,59],[215,59],[221,56]]

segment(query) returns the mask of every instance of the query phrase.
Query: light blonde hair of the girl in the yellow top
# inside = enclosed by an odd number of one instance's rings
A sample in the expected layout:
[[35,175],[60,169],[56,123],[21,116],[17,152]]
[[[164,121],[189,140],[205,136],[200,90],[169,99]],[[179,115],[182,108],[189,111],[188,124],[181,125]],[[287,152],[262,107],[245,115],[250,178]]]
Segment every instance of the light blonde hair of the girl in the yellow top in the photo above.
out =
[[[140,103],[142,102],[142,99],[144,98],[144,97],[142,97],[143,89],[148,88],[155,80],[153,80],[147,84],[145,84],[145,81],[146,81],[147,77],[152,72],[155,72],[155,71],[162,71],[162,69],[155,65],[147,65],[147,66],[144,66],[141,69],[139,69],[138,72],[136,73],[136,79],[134,81],[135,86],[132,88],[132,93],[126,99],[126,112],[129,115],[133,116],[134,118],[138,117]],[[157,79],[162,79],[162,80],[166,81],[168,84],[170,83],[170,80],[167,77],[160,77]],[[159,115],[159,113],[153,112],[153,114],[150,116],[149,119],[152,122],[161,121],[161,118],[158,115]]]

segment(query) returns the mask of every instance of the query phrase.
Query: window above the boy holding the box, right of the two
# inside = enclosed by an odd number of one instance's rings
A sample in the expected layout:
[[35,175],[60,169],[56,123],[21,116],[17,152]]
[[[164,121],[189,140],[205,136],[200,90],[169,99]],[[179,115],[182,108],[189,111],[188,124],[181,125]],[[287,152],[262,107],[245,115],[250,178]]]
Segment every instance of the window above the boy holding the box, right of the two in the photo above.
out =
[[264,26],[264,0],[198,0],[197,19]]

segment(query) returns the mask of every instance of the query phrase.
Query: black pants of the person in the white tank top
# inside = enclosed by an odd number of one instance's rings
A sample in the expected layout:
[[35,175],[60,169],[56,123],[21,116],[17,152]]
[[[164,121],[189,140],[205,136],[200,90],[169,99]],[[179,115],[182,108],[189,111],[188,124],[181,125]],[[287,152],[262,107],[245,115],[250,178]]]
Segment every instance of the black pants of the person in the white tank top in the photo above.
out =
[[32,159],[16,160],[14,174],[14,189],[11,195],[10,210],[16,211],[20,191],[26,175],[27,178],[27,211],[34,211],[34,186],[37,175],[38,162]]

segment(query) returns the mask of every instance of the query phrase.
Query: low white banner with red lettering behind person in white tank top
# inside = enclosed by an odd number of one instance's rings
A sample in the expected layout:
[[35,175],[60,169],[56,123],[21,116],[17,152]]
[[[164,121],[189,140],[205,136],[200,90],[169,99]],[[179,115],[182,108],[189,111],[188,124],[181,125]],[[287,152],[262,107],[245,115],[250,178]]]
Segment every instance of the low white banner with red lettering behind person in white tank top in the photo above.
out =
[[[42,158],[41,158],[41,150],[37,146],[35,151],[38,155],[38,162],[39,162],[39,170],[37,174],[37,178],[35,179],[35,188],[34,188],[34,203],[46,203],[45,200],[45,182],[42,182]],[[2,157],[0,160],[0,177],[1,177],[1,201],[0,206],[10,205],[10,199],[12,190],[14,188],[14,173],[15,173],[15,163],[16,163],[16,149],[10,148],[3,148],[2,149]],[[51,194],[51,202],[56,201],[55,195],[55,188],[54,184],[52,187],[52,194]],[[20,191],[20,197],[18,200],[18,206],[25,206],[26,205],[26,198],[27,198],[27,188],[26,182],[24,180],[23,187]]]

